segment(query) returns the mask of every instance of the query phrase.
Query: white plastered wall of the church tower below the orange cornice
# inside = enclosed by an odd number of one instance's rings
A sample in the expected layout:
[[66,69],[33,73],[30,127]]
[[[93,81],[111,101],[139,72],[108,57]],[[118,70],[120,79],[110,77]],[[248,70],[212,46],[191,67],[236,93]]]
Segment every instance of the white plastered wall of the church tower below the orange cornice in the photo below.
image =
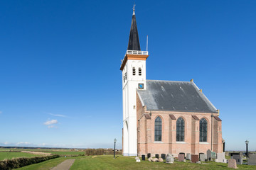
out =
[[[133,75],[133,67],[136,69],[136,75]],[[142,69],[142,75],[139,76],[139,67]],[[124,81],[124,75],[127,72],[127,80]],[[144,84],[146,89],[146,61],[144,60],[128,60],[122,71],[123,86],[123,125],[124,130],[124,155],[137,156],[137,106],[136,106],[136,89],[139,84]]]

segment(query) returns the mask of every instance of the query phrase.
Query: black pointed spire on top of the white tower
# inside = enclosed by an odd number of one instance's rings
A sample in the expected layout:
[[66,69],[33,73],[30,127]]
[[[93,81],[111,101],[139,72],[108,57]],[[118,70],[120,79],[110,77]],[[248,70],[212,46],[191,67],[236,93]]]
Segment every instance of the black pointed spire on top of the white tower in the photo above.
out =
[[136,23],[135,12],[133,12],[133,14],[132,14],[132,25],[131,25],[131,30],[130,30],[129,42],[128,42],[127,50],[137,50],[137,51],[140,51],[139,34],[138,34],[138,30],[137,30],[137,23]]

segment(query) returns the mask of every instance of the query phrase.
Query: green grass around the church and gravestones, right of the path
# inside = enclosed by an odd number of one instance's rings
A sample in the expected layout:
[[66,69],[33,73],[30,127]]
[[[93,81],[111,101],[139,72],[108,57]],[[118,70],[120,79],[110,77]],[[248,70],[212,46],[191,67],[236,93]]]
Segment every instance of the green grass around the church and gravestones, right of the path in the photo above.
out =
[[[256,166],[238,165],[239,169],[256,169]],[[193,164],[189,162],[135,162],[134,157],[98,156],[95,158],[84,157],[76,159],[70,170],[81,169],[229,169],[228,164],[208,162],[206,164]]]

